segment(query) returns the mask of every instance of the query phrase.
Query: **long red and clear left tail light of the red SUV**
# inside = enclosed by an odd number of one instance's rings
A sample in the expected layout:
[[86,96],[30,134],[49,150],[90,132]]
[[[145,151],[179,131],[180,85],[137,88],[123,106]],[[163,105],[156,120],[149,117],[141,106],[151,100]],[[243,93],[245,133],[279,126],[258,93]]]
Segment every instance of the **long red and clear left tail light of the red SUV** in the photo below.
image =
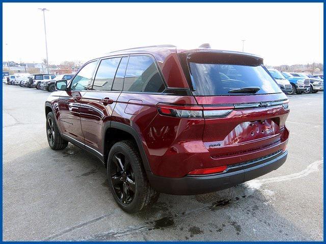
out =
[[178,118],[226,117],[233,111],[233,109],[234,106],[157,105],[159,114]]

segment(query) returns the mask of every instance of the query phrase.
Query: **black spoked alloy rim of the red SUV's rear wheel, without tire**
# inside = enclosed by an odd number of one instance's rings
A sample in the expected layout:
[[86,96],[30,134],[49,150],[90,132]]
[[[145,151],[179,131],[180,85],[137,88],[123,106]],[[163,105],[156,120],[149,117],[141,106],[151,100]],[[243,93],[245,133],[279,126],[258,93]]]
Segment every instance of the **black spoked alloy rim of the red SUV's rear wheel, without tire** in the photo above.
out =
[[111,183],[116,196],[123,204],[132,202],[135,195],[135,178],[131,164],[122,152],[116,153],[111,164]]

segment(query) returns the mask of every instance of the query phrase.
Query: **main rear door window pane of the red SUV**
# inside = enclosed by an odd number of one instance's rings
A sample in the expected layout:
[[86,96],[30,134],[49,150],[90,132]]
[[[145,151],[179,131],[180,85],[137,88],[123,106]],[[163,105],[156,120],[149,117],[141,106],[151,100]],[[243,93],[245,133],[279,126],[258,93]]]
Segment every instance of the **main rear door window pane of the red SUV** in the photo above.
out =
[[111,90],[120,59],[115,57],[101,60],[95,75],[93,90]]

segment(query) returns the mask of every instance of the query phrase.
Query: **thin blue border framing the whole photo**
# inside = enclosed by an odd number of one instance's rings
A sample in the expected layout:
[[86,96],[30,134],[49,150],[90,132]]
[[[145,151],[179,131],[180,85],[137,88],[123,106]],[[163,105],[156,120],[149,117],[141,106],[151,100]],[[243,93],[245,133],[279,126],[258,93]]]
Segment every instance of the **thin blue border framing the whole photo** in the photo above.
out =
[[[314,1],[214,1],[214,0],[204,0],[202,2],[199,1],[195,1],[195,0],[188,0],[188,1],[162,1],[162,0],[158,0],[158,1],[99,1],[96,0],[94,2],[90,2],[90,1],[41,1],[41,0],[34,0],[34,1],[9,1],[9,0],[2,0],[1,3],[325,3],[325,1],[322,0],[314,0]],[[325,4],[323,4],[323,14],[325,13]],[[1,44],[3,46],[3,4],[1,4]],[[325,42],[325,18],[323,19],[323,43]],[[1,61],[3,61],[3,48],[1,48]],[[325,63],[325,49],[323,50],[323,63]],[[3,82],[1,82],[1,94],[0,94],[0,115],[1,118],[3,118]],[[325,96],[323,97],[323,102],[325,104],[326,98]],[[325,124],[326,118],[325,118],[325,111],[326,108],[325,106],[323,106],[323,124]],[[3,163],[3,119],[0,120],[0,132],[1,132],[1,140],[0,140],[0,144],[2,147],[1,150],[1,162]],[[325,127],[323,128],[323,157],[325,156]],[[1,165],[1,181],[3,182],[3,164]],[[1,242],[5,242],[5,243],[42,243],[44,241],[4,241],[3,240],[3,188],[1,188],[0,190],[1,193],[1,233],[2,233],[2,238],[1,238]],[[323,167],[323,237],[325,236],[325,229],[324,229],[324,220],[325,220],[325,202],[324,202],[324,193],[325,193],[325,169]],[[308,217],[307,217],[308,218]],[[64,242],[68,242],[68,241],[51,241],[53,243],[64,243]],[[70,242],[70,241],[69,241]],[[74,241],[74,242],[79,242],[79,243],[102,243],[101,241]],[[155,243],[155,242],[160,242],[160,243],[170,243],[169,241],[148,241],[147,243]],[[194,241],[173,241],[174,243],[183,243],[183,242],[194,242]],[[216,243],[216,242],[223,242],[223,243],[241,243],[241,241],[196,241],[199,244],[204,244],[204,243]],[[249,243],[284,243],[285,241],[246,241]],[[310,243],[309,241],[289,241],[289,242],[299,242],[299,243]],[[287,242],[287,243],[289,243]],[[119,241],[119,243],[144,243],[144,241]],[[324,243],[324,241],[314,241],[314,243]]]

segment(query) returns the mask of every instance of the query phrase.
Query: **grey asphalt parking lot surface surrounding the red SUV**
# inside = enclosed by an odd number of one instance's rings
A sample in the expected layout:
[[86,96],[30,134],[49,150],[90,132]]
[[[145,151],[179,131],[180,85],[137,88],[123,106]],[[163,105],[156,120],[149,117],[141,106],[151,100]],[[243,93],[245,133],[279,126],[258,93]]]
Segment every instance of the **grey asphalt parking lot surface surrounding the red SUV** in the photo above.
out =
[[49,148],[44,90],[3,85],[4,240],[323,240],[323,93],[289,96],[288,159],[221,192],[126,214],[100,161]]

